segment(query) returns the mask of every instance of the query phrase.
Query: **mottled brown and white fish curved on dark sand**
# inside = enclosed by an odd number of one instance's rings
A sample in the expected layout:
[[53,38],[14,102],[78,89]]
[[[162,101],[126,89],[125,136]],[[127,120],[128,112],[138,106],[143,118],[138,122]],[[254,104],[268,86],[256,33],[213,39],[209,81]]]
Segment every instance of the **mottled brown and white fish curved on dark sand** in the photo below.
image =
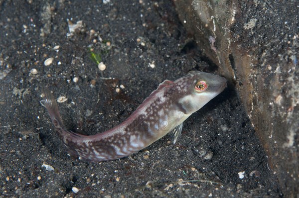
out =
[[127,157],[168,133],[175,143],[183,122],[226,86],[225,78],[199,71],[191,71],[175,81],[165,80],[122,123],[95,135],[68,130],[48,89],[42,89],[41,103],[50,115],[56,134],[71,154],[85,161],[101,162]]

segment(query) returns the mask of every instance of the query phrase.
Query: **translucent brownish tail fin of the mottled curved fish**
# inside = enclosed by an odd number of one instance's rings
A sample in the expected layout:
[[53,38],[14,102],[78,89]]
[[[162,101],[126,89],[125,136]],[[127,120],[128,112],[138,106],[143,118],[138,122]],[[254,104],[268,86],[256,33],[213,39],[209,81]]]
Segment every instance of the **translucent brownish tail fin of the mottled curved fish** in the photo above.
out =
[[57,124],[63,126],[57,102],[53,94],[51,93],[51,91],[43,87],[41,97],[42,97],[41,104],[44,107],[46,107],[46,109],[48,110],[48,113],[54,125],[57,127],[55,123],[58,122]]

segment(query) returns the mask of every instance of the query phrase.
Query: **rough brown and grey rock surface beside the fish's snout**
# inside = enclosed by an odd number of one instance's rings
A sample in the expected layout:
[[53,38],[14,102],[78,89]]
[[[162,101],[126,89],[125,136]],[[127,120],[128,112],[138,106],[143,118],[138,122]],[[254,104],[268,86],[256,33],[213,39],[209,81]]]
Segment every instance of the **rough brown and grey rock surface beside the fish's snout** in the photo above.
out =
[[299,1],[174,2],[188,33],[235,84],[284,195],[299,196]]

